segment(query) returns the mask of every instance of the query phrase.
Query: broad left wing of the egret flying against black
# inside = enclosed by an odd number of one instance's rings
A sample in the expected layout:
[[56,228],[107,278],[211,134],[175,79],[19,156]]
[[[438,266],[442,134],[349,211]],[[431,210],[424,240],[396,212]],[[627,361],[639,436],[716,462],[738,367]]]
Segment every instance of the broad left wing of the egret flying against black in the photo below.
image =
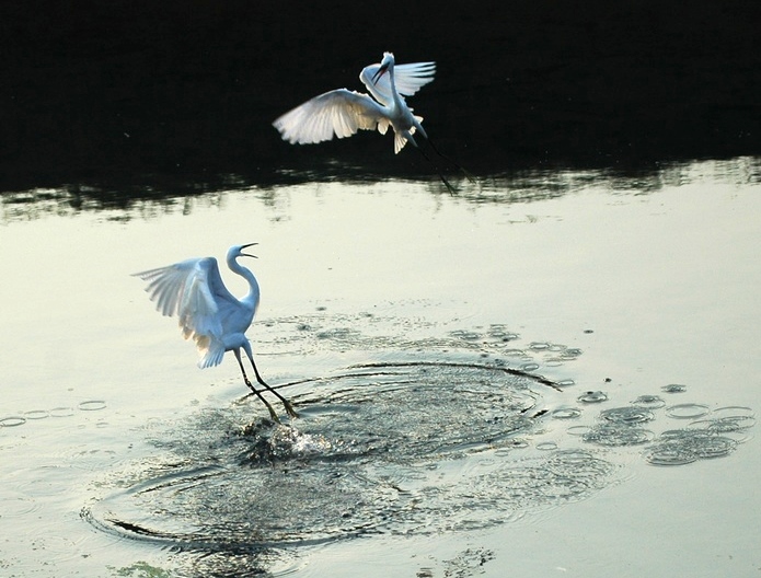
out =
[[357,130],[385,134],[389,120],[367,94],[338,89],[325,92],[284,114],[273,123],[283,138],[293,144],[312,144],[350,137]]

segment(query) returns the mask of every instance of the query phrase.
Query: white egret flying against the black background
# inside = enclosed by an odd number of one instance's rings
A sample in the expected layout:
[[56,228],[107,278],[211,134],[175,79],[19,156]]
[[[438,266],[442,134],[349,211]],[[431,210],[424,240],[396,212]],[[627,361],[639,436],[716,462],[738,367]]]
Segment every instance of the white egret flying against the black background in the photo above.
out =
[[[381,135],[385,135],[391,127],[394,129],[395,153],[411,142],[431,162],[415,141],[413,135],[419,132],[440,157],[447,159],[436,149],[423,128],[423,117],[413,115],[413,109],[404,100],[404,96],[412,96],[431,82],[435,72],[435,62],[395,65],[394,55],[384,53],[380,63],[365,67],[359,73],[359,80],[372,97],[347,89],[333,90],[284,114],[273,126],[280,131],[284,140],[293,144],[323,142],[334,136],[346,138],[360,129],[378,129]],[[449,162],[453,163],[451,160]],[[447,188],[454,192],[441,173],[438,175]]]

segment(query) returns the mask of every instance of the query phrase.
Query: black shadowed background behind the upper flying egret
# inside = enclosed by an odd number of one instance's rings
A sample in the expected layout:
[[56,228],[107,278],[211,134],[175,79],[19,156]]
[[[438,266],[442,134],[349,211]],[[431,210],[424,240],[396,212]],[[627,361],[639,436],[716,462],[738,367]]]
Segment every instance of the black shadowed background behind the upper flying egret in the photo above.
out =
[[429,176],[388,135],[293,147],[270,127],[361,89],[387,49],[437,61],[410,103],[475,174],[761,155],[753,2],[260,4],[4,3],[0,187]]

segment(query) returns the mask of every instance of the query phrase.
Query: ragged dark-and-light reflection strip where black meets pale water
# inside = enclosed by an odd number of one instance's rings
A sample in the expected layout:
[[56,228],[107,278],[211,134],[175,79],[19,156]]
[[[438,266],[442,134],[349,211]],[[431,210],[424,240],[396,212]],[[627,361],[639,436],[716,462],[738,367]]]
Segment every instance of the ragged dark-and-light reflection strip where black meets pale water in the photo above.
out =
[[[162,212],[187,213],[196,204],[215,206],[226,195],[256,190],[268,203],[276,203],[278,194],[292,185],[327,185],[335,182],[368,187],[381,184],[381,175],[368,175],[357,169],[342,166],[318,173],[280,173],[281,178],[265,183],[243,175],[219,175],[207,182],[149,181],[141,184],[112,183],[74,184],[61,188],[34,188],[0,193],[0,219],[34,219],[46,215],[72,216],[87,211],[117,211],[114,219],[145,218]],[[562,196],[580,188],[604,184],[611,190],[623,193],[652,193],[664,187],[681,186],[706,176],[724,183],[750,185],[761,182],[761,160],[741,158],[731,161],[670,163],[649,171],[630,173],[596,170],[526,171],[504,175],[478,177],[474,182],[450,175],[457,183],[460,198],[472,203],[520,203]],[[436,181],[410,181],[411,186],[424,186],[434,195],[447,190]]]

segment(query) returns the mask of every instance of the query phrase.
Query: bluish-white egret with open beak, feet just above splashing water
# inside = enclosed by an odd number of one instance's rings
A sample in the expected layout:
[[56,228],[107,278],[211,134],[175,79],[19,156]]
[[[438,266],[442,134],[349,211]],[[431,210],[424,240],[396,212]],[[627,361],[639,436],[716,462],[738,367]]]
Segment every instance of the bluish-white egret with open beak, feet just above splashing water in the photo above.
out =
[[168,267],[136,273],[135,276],[148,281],[146,291],[162,315],[178,317],[183,336],[186,339],[193,338],[201,356],[198,367],[204,369],[218,366],[222,362],[224,352],[232,351],[241,367],[245,384],[264,402],[272,418],[279,421],[273,406],[249,381],[241,359],[243,349],[254,368],[256,381],[283,402],[289,416],[298,417],[288,400],[262,379],[245,336],[258,308],[260,287],[254,274],[240,265],[238,257],[255,257],[243,253],[244,248],[255,244],[233,245],[228,251],[228,267],[249,282],[249,292],[243,299],[237,299],[224,287],[214,257],[189,258]]

